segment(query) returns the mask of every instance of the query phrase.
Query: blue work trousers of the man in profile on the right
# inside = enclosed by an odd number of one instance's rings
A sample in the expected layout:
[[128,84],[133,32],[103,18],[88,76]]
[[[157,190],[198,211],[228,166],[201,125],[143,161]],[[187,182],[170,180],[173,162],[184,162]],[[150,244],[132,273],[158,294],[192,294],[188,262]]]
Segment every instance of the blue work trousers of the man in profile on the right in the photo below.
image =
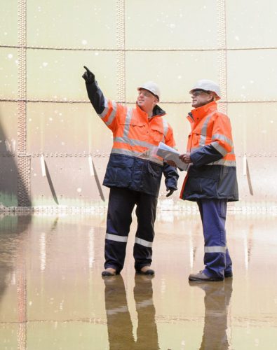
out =
[[198,200],[205,241],[203,272],[224,279],[232,273],[225,231],[227,200]]

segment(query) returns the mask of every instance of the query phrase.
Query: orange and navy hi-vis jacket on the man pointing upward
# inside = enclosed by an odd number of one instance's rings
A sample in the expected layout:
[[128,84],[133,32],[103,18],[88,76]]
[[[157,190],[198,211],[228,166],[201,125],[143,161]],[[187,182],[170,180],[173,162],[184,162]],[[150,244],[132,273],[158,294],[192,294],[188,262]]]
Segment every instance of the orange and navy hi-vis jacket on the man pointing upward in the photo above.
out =
[[87,83],[86,88],[93,108],[114,137],[103,185],[157,197],[164,175],[166,188],[177,190],[177,170],[154,153],[142,155],[161,141],[175,146],[173,130],[162,118],[165,112],[155,106],[153,116],[148,118],[139,106],[131,108],[106,99],[96,82]]

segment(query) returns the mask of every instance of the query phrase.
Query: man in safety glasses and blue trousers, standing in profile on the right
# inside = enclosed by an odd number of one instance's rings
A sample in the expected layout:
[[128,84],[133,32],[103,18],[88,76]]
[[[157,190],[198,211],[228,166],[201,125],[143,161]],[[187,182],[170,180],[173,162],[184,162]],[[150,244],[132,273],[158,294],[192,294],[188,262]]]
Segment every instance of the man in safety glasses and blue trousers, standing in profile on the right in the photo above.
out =
[[217,111],[216,101],[220,99],[217,83],[199,80],[190,93],[194,107],[187,117],[191,133],[187,153],[180,155],[189,169],[180,198],[198,204],[205,241],[205,268],[190,274],[189,280],[222,281],[233,276],[225,232],[227,202],[238,200],[231,123]]

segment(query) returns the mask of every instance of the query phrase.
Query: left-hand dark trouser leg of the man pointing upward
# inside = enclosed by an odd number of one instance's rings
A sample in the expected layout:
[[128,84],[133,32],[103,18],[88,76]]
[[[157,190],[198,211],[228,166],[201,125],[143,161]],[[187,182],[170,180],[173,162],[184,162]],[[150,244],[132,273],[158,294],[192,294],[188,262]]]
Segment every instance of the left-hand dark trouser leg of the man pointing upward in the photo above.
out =
[[104,268],[123,269],[132,211],[136,202],[135,191],[127,188],[111,188],[107,213],[107,233],[104,247]]

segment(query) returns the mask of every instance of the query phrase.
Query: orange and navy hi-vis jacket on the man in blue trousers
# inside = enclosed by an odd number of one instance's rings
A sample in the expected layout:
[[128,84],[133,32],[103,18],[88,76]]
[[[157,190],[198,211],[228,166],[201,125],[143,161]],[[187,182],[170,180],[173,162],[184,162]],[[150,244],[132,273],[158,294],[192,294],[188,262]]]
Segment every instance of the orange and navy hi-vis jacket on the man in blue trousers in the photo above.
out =
[[238,200],[236,156],[228,116],[216,102],[198,107],[187,117],[191,133],[187,143],[192,164],[182,188],[184,200]]

